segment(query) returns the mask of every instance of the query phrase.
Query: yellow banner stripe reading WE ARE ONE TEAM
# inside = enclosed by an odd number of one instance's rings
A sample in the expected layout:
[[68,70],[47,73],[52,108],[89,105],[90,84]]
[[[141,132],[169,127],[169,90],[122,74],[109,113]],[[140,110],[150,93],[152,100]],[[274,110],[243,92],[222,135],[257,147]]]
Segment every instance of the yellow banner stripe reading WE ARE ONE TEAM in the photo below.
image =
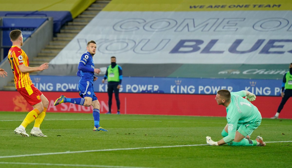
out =
[[291,0],[112,0],[103,11],[292,10]]

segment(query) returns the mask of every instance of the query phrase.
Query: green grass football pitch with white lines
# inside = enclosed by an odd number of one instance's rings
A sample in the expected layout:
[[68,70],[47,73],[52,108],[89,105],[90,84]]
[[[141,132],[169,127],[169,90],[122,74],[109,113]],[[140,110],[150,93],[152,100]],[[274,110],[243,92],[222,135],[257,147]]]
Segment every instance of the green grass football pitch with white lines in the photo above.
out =
[[[251,139],[266,146],[207,146],[225,117],[100,115],[108,132],[93,131],[92,114],[47,112],[48,137],[13,133],[27,112],[0,112],[0,167],[291,167],[292,120],[263,119]],[[26,131],[30,135],[33,123]],[[284,141],[284,142],[283,142]],[[288,142],[287,142],[288,141]]]

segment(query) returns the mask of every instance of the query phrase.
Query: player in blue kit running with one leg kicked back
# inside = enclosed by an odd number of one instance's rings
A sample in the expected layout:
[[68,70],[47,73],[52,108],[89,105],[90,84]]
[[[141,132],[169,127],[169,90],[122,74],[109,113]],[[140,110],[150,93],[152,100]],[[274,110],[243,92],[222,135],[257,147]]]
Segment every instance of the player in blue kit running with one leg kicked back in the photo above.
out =
[[100,103],[93,90],[93,81],[97,80],[94,73],[99,74],[100,69],[94,68],[93,55],[96,51],[95,41],[89,41],[87,43],[87,52],[81,56],[78,65],[77,75],[80,76],[78,83],[79,95],[81,98],[67,98],[61,95],[54,103],[57,106],[60,103],[74,103],[81,106],[93,106],[93,119],[94,128],[93,131],[107,131],[99,125],[100,121]]

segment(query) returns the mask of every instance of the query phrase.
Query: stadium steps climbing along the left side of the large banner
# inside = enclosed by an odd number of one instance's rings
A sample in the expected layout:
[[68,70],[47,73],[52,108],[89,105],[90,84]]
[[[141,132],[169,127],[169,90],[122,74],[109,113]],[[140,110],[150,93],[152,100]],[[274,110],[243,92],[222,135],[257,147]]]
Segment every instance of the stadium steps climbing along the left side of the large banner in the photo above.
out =
[[[29,60],[30,67],[38,67],[45,62],[50,62],[58,53],[95,17],[111,0],[96,0],[84,12],[66,23],[56,33],[51,42],[41,50],[40,53],[31,60]],[[38,72],[32,72],[30,75],[37,75]],[[3,90],[15,90],[14,81],[9,82],[3,87]]]

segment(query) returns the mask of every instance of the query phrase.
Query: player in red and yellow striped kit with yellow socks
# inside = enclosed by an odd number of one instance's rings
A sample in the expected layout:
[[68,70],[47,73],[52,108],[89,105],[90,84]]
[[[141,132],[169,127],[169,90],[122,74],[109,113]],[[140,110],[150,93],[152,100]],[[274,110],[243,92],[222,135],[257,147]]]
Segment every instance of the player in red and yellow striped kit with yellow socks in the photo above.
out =
[[48,99],[44,94],[38,90],[32,83],[29,77],[30,72],[42,71],[48,69],[49,64],[44,63],[39,67],[29,67],[28,57],[26,53],[20,48],[23,44],[23,37],[20,30],[13,30],[10,32],[10,39],[12,47],[8,52],[8,61],[11,65],[12,72],[14,74],[14,83],[16,90],[25,98],[25,100],[33,106],[33,110],[30,111],[20,126],[15,128],[14,133],[29,137],[25,128],[34,122],[34,127],[30,134],[37,137],[47,137],[39,129],[41,123],[46,116],[46,110],[49,105]]

